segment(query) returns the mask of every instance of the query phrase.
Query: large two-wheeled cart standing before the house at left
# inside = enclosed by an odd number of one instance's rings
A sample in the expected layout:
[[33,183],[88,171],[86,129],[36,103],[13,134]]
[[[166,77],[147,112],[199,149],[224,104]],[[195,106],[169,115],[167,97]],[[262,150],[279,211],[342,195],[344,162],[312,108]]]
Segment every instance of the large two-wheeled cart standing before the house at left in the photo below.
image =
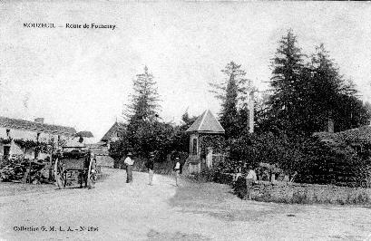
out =
[[[70,149],[70,150],[69,150]],[[63,148],[54,163],[54,177],[58,188],[73,186],[77,179],[80,188],[93,188],[95,183],[96,160],[89,149]],[[76,176],[77,174],[77,176]]]

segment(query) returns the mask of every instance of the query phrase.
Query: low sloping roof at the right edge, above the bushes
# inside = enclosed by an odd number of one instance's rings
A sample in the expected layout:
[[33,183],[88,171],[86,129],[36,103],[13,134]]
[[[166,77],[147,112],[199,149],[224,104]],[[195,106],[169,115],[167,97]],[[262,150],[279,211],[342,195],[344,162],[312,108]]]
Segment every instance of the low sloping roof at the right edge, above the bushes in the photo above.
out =
[[360,142],[371,144],[371,126],[362,126],[355,129],[339,131],[335,133],[316,132],[313,134],[321,140],[341,142]]

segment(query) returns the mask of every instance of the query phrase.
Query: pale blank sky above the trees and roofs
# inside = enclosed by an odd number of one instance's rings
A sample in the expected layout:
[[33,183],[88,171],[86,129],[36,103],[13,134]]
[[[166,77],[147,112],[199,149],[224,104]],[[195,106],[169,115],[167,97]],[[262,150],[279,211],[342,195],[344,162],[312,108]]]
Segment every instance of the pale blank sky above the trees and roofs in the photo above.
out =
[[[55,28],[26,28],[53,23]],[[71,29],[66,24],[114,24]],[[260,91],[291,28],[303,53],[324,43],[363,101],[371,101],[371,4],[360,2],[3,1],[0,115],[90,130],[100,140],[122,120],[132,80],[145,65],[161,118],[220,110],[209,82],[234,61]]]

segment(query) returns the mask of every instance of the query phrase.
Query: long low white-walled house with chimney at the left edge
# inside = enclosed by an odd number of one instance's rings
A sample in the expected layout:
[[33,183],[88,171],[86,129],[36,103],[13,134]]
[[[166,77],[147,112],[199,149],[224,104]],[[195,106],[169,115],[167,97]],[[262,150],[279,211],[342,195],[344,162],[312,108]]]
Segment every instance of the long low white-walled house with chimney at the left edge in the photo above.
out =
[[71,141],[75,133],[72,127],[45,124],[44,118],[28,121],[0,117],[0,157],[22,155],[26,159],[44,159],[47,153],[31,148],[35,143]]

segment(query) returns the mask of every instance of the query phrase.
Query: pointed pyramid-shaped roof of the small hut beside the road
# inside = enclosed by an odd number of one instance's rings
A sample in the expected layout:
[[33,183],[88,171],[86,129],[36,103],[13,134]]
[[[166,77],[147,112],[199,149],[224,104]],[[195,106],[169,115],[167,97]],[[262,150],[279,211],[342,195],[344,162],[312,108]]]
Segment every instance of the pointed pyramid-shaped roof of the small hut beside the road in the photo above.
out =
[[186,132],[204,132],[204,133],[220,133],[224,134],[225,130],[220,125],[219,120],[211,113],[210,110],[203,111],[203,113],[194,120]]

